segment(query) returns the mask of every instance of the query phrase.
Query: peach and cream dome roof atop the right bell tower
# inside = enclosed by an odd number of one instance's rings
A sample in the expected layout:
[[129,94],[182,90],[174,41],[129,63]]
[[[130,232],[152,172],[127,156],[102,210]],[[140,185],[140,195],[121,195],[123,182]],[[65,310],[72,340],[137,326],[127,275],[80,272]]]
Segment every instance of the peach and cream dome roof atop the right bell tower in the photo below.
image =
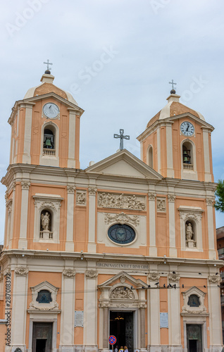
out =
[[191,113],[192,115],[196,116],[197,118],[201,118],[201,120],[205,120],[204,116],[201,115],[198,111],[192,110],[188,108],[188,106],[183,105],[179,102],[180,95],[178,94],[170,94],[166,100],[168,103],[161,111],[156,113],[156,115],[149,120],[147,127],[151,126],[157,120],[163,120],[165,118],[170,118],[172,116],[181,115],[182,113]]

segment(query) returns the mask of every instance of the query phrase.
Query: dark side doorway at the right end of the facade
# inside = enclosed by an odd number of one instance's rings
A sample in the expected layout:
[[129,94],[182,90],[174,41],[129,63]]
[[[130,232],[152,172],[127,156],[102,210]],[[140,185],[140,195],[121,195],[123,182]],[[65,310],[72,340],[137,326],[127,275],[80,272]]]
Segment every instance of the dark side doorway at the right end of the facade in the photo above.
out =
[[201,325],[187,325],[187,352],[202,352]]

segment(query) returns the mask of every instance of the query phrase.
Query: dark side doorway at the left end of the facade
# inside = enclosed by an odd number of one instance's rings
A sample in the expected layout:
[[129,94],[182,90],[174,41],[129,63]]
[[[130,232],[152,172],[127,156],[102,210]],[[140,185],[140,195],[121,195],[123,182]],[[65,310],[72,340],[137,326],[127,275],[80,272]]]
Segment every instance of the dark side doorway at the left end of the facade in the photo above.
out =
[[52,322],[34,322],[32,330],[32,351],[51,352]]

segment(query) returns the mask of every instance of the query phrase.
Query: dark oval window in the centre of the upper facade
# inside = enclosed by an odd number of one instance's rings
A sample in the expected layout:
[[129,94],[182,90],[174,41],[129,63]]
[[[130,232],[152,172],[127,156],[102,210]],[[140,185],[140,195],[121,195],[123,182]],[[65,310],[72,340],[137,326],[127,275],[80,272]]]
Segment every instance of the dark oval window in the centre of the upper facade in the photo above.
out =
[[117,244],[130,244],[135,239],[135,231],[128,225],[112,225],[108,230],[108,237]]

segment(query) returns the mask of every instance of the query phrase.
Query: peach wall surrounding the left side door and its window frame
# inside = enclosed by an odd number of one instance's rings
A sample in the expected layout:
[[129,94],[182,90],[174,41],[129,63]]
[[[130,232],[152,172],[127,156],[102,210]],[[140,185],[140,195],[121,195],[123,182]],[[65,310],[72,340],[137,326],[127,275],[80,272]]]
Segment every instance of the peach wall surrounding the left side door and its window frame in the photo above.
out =
[[[35,287],[37,284],[41,284],[44,281],[49,282],[49,284],[58,287],[57,292],[57,303],[58,309],[61,309],[61,272],[35,272],[30,271],[28,276],[28,291],[27,291],[27,309],[30,307],[32,302],[32,291],[30,287]],[[57,315],[57,332],[60,332],[61,327],[61,314]],[[27,322],[26,322],[26,337],[25,344],[29,345],[29,327],[30,327],[30,314],[27,313]],[[57,334],[57,348],[60,343],[60,334]]]

